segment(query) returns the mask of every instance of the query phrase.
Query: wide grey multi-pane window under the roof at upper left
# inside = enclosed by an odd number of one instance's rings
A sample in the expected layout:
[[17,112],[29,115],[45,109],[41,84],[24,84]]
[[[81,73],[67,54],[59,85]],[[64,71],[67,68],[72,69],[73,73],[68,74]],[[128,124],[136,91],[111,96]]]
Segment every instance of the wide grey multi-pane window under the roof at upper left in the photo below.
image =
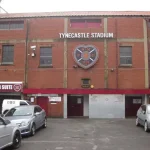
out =
[[23,29],[24,22],[23,21],[1,21],[0,22],[0,30],[15,30],[15,29]]

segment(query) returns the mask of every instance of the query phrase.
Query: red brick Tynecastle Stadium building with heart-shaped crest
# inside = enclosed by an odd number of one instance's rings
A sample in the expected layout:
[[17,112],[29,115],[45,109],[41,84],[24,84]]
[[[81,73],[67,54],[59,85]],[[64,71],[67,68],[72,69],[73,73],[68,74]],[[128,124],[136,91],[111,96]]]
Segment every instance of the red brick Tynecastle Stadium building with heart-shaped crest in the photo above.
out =
[[149,103],[150,12],[0,14],[0,106],[125,118]]

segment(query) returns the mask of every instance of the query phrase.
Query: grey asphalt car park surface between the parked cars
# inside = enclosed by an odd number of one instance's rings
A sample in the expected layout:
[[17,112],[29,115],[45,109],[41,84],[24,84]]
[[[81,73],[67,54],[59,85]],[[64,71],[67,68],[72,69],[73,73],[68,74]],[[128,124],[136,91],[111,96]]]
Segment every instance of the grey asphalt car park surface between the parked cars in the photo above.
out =
[[149,150],[150,133],[135,119],[48,119],[18,150]]

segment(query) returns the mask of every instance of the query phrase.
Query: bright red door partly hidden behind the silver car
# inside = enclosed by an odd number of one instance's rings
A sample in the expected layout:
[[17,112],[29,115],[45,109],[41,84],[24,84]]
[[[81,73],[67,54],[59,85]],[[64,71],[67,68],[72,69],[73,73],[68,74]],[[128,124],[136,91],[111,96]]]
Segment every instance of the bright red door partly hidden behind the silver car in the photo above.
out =
[[37,105],[41,106],[41,108],[44,109],[48,115],[48,97],[38,97]]

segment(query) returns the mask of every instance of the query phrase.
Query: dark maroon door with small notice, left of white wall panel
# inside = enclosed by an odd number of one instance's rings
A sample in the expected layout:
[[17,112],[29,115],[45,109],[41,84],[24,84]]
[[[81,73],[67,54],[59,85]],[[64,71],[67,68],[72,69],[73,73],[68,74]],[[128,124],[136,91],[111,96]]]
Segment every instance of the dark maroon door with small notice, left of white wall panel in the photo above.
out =
[[68,96],[67,114],[68,117],[83,116],[83,96]]

